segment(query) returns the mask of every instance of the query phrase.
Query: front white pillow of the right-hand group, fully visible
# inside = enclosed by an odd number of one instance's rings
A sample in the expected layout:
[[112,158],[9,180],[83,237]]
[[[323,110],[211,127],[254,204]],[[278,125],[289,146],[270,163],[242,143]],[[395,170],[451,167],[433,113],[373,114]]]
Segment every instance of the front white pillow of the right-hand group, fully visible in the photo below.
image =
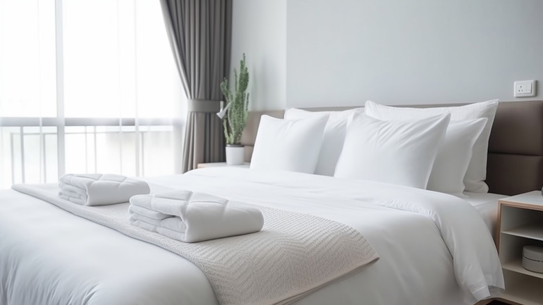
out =
[[333,176],[425,189],[449,120],[449,114],[416,121],[356,116]]

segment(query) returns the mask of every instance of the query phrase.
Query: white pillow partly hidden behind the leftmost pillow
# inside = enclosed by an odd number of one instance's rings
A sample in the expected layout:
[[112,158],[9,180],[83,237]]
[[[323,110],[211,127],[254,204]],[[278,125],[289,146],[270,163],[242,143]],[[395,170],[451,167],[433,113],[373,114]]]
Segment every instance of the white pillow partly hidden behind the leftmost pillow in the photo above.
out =
[[317,118],[328,116],[328,122],[324,127],[324,136],[322,147],[320,148],[315,173],[317,175],[332,176],[338,164],[338,158],[345,141],[345,132],[347,131],[347,121],[349,117],[355,114],[363,113],[363,108],[349,109],[345,111],[305,111],[296,108],[290,108],[285,111],[286,119]]

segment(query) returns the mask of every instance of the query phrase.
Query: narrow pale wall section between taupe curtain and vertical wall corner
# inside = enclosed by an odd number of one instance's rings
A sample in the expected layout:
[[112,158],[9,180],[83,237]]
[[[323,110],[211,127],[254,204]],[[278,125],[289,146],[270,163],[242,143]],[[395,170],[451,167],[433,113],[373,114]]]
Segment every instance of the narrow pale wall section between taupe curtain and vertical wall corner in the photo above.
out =
[[286,6],[287,0],[233,0],[230,69],[239,70],[245,53],[251,110],[285,109]]

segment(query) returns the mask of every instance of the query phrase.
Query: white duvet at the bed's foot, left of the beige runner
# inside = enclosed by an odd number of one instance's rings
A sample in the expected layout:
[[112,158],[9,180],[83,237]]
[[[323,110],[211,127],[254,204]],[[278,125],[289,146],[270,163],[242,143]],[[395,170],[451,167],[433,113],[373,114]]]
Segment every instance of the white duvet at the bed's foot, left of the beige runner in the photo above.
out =
[[217,304],[188,260],[0,191],[0,304]]

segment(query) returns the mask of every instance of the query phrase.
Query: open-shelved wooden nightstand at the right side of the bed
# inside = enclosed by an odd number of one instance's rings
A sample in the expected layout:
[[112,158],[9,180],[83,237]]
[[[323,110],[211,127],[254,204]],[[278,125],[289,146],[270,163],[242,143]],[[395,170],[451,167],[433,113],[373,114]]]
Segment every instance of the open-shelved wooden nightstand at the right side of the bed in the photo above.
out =
[[543,273],[522,267],[522,247],[543,247],[543,196],[541,191],[498,200],[496,246],[505,276],[505,302],[543,304]]

